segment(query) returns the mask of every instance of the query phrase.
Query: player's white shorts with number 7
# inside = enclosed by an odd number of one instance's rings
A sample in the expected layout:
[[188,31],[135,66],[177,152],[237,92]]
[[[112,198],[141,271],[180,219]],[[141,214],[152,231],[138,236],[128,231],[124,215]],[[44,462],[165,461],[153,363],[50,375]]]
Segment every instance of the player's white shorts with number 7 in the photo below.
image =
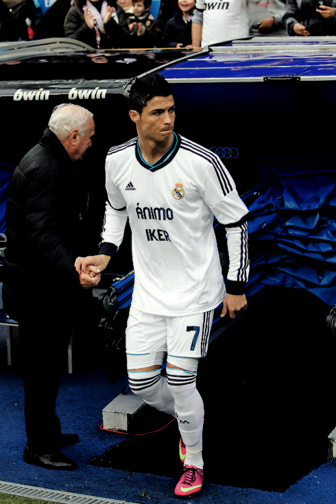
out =
[[213,310],[182,317],[165,317],[130,308],[126,353],[167,352],[172,357],[200,359],[208,351]]

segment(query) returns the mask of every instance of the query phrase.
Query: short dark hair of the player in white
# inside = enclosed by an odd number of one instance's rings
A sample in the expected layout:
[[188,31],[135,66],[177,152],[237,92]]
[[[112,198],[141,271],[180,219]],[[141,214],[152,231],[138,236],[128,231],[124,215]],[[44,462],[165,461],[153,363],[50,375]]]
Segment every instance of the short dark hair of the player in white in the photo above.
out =
[[141,114],[147,102],[155,96],[172,94],[171,85],[165,80],[165,77],[157,72],[148,73],[143,77],[136,77],[134,80],[128,95],[128,104],[130,110],[136,110]]

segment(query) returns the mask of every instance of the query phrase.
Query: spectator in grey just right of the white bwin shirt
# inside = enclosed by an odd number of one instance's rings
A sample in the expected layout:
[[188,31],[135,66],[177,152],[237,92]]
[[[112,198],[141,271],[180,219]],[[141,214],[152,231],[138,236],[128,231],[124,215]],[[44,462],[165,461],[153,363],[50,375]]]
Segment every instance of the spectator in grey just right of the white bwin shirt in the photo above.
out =
[[287,35],[285,6],[286,0],[250,0],[250,35]]

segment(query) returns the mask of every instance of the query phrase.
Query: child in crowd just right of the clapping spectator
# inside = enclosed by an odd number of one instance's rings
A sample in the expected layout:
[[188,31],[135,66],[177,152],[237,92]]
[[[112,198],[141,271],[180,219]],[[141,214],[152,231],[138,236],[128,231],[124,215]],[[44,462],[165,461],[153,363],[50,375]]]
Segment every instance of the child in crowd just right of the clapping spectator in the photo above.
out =
[[[134,47],[154,47],[155,38],[150,31],[154,17],[149,14],[152,0],[133,0],[133,14],[128,17],[128,27],[134,40]],[[132,44],[133,45],[133,44]]]

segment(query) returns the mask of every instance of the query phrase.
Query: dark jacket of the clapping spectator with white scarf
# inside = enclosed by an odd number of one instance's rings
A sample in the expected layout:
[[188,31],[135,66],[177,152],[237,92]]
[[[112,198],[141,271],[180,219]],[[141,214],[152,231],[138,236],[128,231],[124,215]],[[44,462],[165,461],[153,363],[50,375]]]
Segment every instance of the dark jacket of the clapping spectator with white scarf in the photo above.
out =
[[[115,9],[119,23],[111,18],[110,21],[104,25],[106,33],[100,34],[100,49],[124,48],[130,47],[131,45],[128,18],[119,5],[117,5]],[[74,5],[67,13],[67,17],[64,21],[64,37],[75,38],[75,40],[80,40],[91,47],[97,48],[95,29],[91,29],[86,25],[82,5]]]

